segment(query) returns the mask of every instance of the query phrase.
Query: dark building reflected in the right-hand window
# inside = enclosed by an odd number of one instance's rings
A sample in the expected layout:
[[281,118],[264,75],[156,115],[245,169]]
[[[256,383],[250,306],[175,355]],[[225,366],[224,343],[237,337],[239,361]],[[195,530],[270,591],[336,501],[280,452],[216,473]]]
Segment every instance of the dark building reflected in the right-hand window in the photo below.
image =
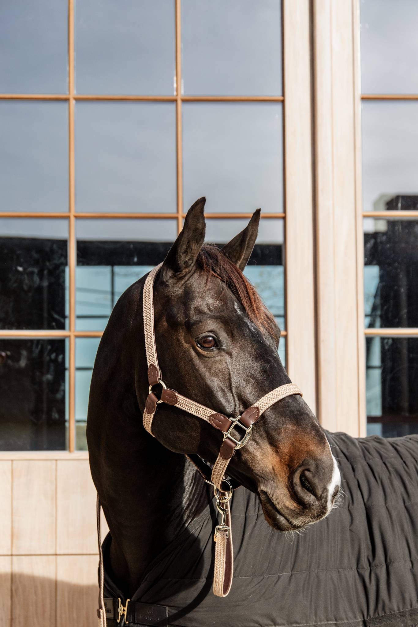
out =
[[[417,209],[418,196],[394,196],[386,209]],[[379,224],[380,223],[380,224]],[[365,233],[365,266],[378,266],[379,283],[369,327],[418,327],[418,221],[375,219],[375,233]],[[379,230],[379,226],[381,229]],[[372,362],[380,342],[380,364]],[[384,436],[418,433],[418,337],[368,337],[367,368],[380,368]]]

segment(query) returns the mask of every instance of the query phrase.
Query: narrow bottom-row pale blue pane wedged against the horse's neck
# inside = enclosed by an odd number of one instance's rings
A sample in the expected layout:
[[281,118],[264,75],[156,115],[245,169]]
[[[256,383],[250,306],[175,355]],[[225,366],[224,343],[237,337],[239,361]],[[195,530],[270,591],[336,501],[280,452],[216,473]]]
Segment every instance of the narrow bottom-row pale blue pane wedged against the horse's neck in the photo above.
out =
[[91,373],[100,337],[77,337],[75,340],[75,425],[76,449],[87,450],[86,421]]

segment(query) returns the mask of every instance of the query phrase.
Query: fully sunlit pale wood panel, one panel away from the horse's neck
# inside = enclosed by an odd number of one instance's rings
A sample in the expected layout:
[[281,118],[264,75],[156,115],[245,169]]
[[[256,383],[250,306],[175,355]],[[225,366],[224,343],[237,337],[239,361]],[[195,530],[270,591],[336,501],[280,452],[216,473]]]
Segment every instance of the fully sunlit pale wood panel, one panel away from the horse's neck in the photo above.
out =
[[55,461],[13,462],[13,554],[55,554]]

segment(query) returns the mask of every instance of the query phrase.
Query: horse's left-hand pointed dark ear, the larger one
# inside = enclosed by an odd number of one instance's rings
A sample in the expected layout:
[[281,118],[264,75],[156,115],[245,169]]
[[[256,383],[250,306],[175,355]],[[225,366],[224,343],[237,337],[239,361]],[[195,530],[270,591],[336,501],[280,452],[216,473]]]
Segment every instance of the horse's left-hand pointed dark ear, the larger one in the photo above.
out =
[[205,238],[206,224],[203,213],[205,203],[206,198],[203,196],[187,211],[182,231],[162,265],[163,273],[169,271],[177,275],[187,274],[194,266]]

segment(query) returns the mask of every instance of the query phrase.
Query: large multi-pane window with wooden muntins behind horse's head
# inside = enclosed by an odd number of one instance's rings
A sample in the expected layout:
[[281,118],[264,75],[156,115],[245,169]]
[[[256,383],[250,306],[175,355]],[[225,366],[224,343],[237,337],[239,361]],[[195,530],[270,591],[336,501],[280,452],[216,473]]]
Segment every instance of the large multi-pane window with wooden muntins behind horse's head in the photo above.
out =
[[279,0],[3,3],[0,448],[85,449],[112,307],[202,195],[219,244],[262,207],[246,274],[286,361],[281,23]]

